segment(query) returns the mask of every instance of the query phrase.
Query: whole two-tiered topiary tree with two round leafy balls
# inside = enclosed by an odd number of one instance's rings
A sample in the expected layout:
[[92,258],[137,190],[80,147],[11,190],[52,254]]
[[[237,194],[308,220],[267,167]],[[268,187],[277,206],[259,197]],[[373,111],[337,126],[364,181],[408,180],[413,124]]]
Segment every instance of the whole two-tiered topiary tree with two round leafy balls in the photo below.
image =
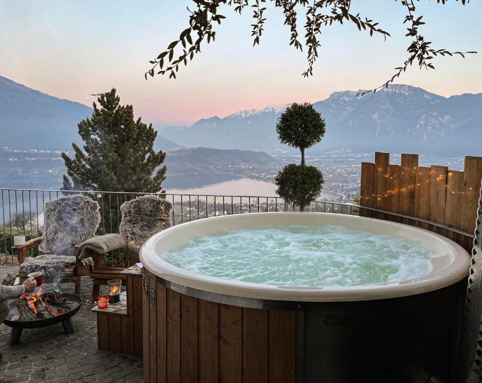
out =
[[298,148],[301,164],[286,165],[274,179],[276,192],[287,203],[294,203],[304,211],[306,205],[320,195],[323,174],[314,166],[306,166],[304,151],[319,143],[325,134],[325,120],[309,103],[293,103],[278,118],[276,132],[282,144]]

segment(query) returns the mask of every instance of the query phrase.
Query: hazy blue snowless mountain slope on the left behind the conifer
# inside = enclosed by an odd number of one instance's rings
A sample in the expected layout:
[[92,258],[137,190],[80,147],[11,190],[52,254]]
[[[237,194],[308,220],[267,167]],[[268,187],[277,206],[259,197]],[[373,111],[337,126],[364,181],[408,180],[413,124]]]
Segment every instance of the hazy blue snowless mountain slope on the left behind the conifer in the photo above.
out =
[[[81,144],[77,123],[93,109],[0,76],[0,146],[14,149],[71,150]],[[154,149],[183,148],[158,135]]]

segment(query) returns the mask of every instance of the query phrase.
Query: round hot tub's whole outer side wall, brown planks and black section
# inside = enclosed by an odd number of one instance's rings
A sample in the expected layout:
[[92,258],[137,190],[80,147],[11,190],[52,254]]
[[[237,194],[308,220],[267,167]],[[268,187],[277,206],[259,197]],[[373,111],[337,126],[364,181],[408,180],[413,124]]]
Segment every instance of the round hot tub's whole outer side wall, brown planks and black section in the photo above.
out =
[[145,281],[144,382],[452,379],[464,281],[410,297],[332,303],[244,301],[148,271]]

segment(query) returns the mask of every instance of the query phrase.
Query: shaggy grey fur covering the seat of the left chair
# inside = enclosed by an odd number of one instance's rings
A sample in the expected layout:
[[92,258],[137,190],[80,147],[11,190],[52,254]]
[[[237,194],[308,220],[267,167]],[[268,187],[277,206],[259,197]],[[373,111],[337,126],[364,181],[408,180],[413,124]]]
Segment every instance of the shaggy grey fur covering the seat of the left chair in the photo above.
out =
[[[83,259],[80,265],[82,267],[93,266],[92,258]],[[25,258],[21,265],[28,274],[40,271],[46,277],[51,277],[56,272],[63,271],[69,266],[75,266],[75,256],[73,255],[42,254],[34,258]]]

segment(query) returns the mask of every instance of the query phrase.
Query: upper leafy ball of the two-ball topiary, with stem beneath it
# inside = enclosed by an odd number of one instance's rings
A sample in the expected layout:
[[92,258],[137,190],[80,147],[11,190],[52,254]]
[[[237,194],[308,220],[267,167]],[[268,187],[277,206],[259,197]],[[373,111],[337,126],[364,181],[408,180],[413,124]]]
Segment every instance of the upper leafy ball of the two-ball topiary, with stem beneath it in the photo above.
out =
[[294,102],[279,116],[276,133],[281,144],[300,150],[301,165],[304,165],[305,149],[321,141],[325,126],[325,120],[313,108],[313,104]]

